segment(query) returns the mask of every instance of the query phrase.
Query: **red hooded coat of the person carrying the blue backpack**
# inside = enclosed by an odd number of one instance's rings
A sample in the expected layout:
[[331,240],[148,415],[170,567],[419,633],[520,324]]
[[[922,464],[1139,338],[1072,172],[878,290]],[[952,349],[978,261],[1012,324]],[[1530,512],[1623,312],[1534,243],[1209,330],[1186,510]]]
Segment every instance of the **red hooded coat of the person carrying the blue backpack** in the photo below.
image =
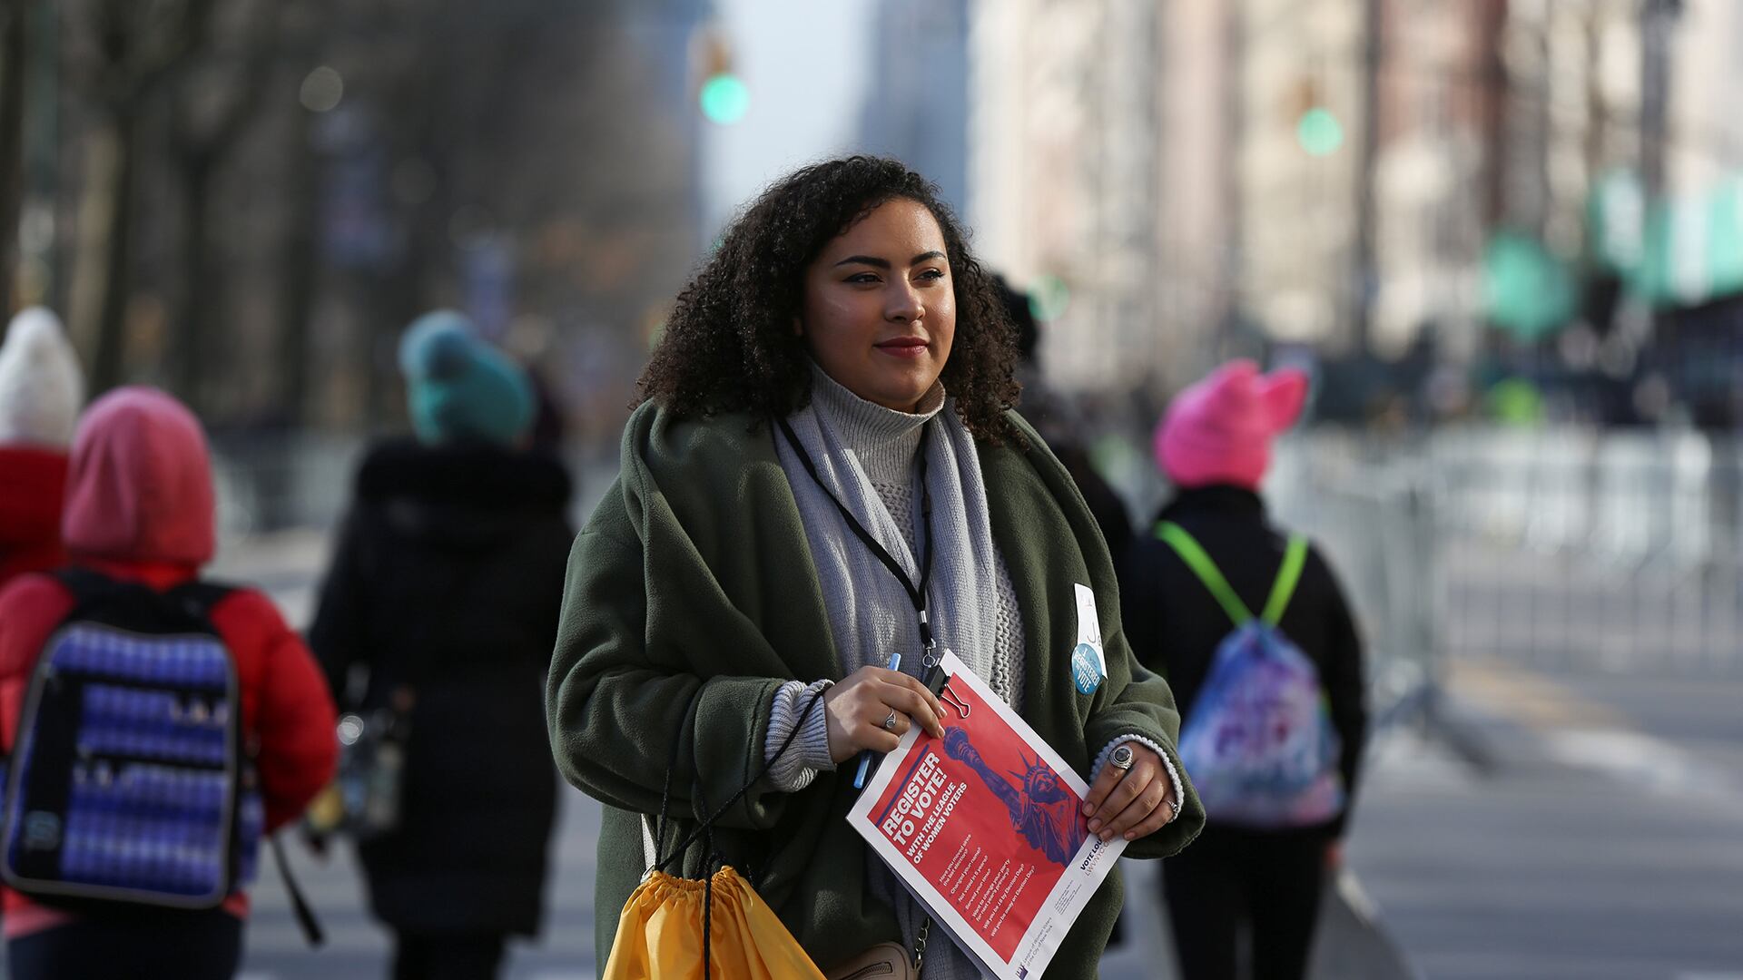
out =
[[[122,389],[91,408],[73,443],[63,539],[75,565],[167,589],[197,577],[213,555],[211,460],[199,422],[174,399]],[[73,596],[49,575],[0,591],[0,745],[12,748],[30,677]],[[338,743],[326,680],[277,607],[237,589],[211,610],[235,657],[242,732],[258,745],[267,830],[298,814],[333,778]],[[3,889],[5,935],[70,919]],[[248,915],[248,896],[225,909]]]

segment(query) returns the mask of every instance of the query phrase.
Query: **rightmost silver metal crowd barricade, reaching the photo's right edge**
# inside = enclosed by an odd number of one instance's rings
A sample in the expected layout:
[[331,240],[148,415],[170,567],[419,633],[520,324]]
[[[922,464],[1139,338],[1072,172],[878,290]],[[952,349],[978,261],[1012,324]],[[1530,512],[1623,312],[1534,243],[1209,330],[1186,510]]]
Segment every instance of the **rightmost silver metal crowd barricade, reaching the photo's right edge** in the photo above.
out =
[[1743,670],[1733,443],[1550,429],[1447,432],[1434,448],[1452,656]]

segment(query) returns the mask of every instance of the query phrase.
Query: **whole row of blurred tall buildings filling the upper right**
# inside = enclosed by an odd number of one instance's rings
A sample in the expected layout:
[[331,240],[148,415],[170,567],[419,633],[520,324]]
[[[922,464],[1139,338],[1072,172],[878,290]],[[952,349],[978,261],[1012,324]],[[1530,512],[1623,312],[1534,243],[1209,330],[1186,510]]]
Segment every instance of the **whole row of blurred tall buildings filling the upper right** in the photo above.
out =
[[983,0],[971,19],[971,216],[1020,282],[1068,289],[1065,385],[1168,389],[1290,345],[1368,375],[1532,371],[1607,417],[1579,391],[1687,373],[1666,363],[1687,310],[1743,323],[1712,309],[1743,293],[1727,0]]

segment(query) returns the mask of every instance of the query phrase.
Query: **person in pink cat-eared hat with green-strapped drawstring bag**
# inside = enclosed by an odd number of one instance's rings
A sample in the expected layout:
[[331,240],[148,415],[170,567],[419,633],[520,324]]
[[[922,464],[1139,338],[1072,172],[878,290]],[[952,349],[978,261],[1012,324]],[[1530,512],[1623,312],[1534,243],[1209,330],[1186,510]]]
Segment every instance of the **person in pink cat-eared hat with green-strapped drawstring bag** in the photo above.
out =
[[[1168,677],[1185,704],[1182,753],[1208,814],[1197,840],[1163,865],[1180,971],[1192,980],[1234,977],[1243,924],[1255,980],[1306,973],[1321,886],[1339,861],[1367,738],[1361,642],[1349,605],[1325,558],[1304,539],[1292,548],[1292,535],[1271,523],[1258,495],[1271,443],[1295,424],[1306,392],[1300,371],[1260,375],[1251,361],[1225,364],[1183,391],[1156,438],[1157,464],[1175,495],[1156,518],[1157,537],[1133,542],[1121,574],[1133,650]],[[1292,551],[1300,561],[1295,568]],[[1236,635],[1251,626],[1246,610],[1258,609],[1281,636]],[[1229,642],[1234,647],[1224,652]],[[1306,710],[1328,715],[1335,741],[1316,731],[1319,720],[1295,725],[1325,752],[1311,762],[1318,771],[1306,774],[1311,788],[1257,816],[1262,807],[1232,799],[1238,793],[1227,802],[1218,797],[1213,774],[1194,762],[1190,739],[1196,725],[1211,722],[1208,711],[1243,710],[1239,698],[1210,704],[1213,668],[1224,659],[1234,664],[1224,668],[1227,680],[1239,673],[1238,657],[1258,649],[1278,654],[1279,643],[1311,663],[1299,664],[1314,685],[1304,691]],[[1321,696],[1328,710],[1318,708]],[[1234,731],[1286,727],[1257,715],[1231,722]]]

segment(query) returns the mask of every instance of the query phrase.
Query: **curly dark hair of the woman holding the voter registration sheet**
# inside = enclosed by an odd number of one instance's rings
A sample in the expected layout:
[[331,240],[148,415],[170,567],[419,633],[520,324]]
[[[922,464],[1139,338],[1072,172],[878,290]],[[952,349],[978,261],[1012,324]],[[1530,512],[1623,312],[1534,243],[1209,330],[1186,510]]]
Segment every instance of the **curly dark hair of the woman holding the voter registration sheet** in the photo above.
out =
[[854,221],[887,201],[913,201],[938,220],[950,256],[957,328],[941,380],[976,438],[1016,436],[1016,328],[992,276],[969,253],[938,188],[899,160],[845,157],[798,169],[765,190],[727,228],[715,255],[678,293],[638,387],[678,415],[790,415],[810,403],[810,368],[793,319],[805,269]]

